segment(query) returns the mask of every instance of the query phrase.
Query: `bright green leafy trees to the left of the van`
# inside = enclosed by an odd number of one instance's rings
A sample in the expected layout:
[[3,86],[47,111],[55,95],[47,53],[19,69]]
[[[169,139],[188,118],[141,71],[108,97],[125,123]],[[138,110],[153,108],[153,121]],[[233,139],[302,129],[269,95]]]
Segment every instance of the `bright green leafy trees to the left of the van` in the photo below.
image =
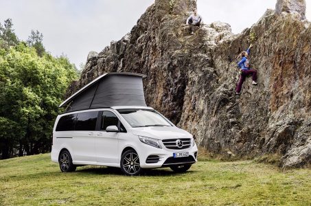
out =
[[6,144],[0,148],[3,158],[14,151],[32,155],[49,150],[54,119],[61,112],[58,105],[77,78],[67,58],[42,55],[23,42],[0,50],[0,142]]

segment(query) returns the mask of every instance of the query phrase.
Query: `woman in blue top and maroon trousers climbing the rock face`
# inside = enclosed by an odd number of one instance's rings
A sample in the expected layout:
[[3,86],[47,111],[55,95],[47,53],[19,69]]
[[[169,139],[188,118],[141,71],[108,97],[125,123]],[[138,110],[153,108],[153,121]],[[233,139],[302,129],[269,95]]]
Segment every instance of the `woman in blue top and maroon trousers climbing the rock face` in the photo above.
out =
[[249,46],[249,49],[243,51],[241,55],[241,60],[238,62],[238,67],[240,68],[240,81],[238,82],[238,86],[235,89],[235,93],[237,95],[240,95],[241,89],[242,89],[242,84],[245,81],[246,77],[251,75],[253,78],[253,85],[257,85],[257,71],[255,69],[251,69],[249,65],[249,53],[251,51],[252,45]]

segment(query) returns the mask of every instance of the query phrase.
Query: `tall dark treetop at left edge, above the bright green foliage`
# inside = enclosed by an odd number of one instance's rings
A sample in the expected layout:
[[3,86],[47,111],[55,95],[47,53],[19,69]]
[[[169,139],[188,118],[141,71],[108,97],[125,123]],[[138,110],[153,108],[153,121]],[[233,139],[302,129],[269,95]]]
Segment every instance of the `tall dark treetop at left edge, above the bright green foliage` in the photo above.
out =
[[0,23],[0,48],[8,49],[19,43],[13,30],[12,19],[6,19],[4,25]]

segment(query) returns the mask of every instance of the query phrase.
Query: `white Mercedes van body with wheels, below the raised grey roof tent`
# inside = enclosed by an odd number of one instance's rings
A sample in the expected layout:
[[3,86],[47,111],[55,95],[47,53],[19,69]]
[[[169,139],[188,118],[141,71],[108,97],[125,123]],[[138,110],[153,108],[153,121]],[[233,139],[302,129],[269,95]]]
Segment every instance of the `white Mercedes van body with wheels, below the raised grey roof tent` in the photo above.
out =
[[[137,76],[126,73],[127,77],[133,75]],[[110,76],[120,74],[110,73]],[[77,94],[71,96],[71,100],[75,96]],[[153,108],[109,106],[79,111],[67,109],[58,115],[51,160],[59,163],[62,172],[73,172],[78,165],[104,165],[121,168],[124,174],[133,176],[143,168],[170,167],[176,172],[185,172],[196,163],[197,154],[192,135],[174,126]]]

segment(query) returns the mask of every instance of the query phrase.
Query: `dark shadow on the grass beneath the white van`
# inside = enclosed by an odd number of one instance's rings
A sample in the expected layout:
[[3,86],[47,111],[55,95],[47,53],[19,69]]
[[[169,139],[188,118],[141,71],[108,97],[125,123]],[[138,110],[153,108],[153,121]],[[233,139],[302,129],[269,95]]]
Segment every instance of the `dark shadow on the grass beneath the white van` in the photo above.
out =
[[[89,166],[86,166],[85,168],[81,168],[80,170],[76,171],[77,173],[84,173],[84,174],[113,174],[113,175],[121,175],[125,176],[120,168],[110,168],[110,167],[98,167],[98,166],[92,166],[91,168]],[[161,169],[153,169],[153,170],[142,170],[140,176],[178,176],[181,174],[191,174],[196,171],[187,171],[185,173],[177,173],[173,172],[171,170],[163,170]]]

